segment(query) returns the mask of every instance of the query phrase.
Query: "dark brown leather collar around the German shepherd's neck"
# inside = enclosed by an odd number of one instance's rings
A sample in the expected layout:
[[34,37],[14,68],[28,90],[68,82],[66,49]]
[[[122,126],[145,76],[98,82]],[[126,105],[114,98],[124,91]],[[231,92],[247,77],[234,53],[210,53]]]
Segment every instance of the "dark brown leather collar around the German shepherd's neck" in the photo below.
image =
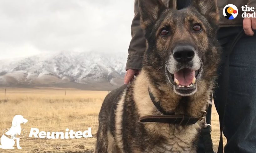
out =
[[202,115],[200,117],[189,117],[184,115],[173,115],[174,113],[171,111],[165,111],[160,103],[156,101],[153,94],[148,89],[149,96],[151,98],[151,101],[156,106],[156,108],[164,115],[147,115],[142,116],[139,118],[140,122],[158,122],[158,123],[169,123],[169,124],[175,124],[180,126],[186,126],[186,125],[192,125],[197,123],[197,121],[201,121],[206,116],[206,111],[202,111]]

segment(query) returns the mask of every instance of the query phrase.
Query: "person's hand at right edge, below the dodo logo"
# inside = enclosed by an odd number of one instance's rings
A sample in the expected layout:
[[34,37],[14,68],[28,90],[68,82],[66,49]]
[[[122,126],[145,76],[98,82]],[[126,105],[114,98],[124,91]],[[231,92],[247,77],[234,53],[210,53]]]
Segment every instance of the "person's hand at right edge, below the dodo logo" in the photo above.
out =
[[256,30],[256,18],[254,17],[245,17],[243,18],[243,30],[246,35],[253,36],[253,30]]

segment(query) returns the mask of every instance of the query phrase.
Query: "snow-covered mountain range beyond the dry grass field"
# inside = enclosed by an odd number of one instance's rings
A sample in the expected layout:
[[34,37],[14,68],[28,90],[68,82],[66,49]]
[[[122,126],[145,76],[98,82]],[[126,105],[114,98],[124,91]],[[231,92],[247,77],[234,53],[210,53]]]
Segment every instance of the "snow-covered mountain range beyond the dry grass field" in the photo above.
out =
[[59,52],[0,60],[0,86],[61,86],[108,89],[125,75],[124,53]]

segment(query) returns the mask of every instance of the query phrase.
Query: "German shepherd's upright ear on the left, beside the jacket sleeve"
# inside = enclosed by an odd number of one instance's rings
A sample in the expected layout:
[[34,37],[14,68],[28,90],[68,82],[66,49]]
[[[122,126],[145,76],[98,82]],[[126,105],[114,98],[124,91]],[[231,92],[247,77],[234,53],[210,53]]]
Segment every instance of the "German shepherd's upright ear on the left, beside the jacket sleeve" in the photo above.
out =
[[166,9],[166,6],[161,0],[138,0],[141,13],[141,28],[153,24],[160,13]]

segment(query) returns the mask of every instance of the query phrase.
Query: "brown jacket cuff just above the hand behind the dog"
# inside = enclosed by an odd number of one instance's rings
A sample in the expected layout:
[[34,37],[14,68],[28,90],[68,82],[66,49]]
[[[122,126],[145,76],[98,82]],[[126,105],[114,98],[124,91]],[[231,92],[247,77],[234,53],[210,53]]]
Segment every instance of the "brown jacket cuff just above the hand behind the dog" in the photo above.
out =
[[141,55],[131,55],[131,56],[129,55],[127,58],[125,70],[128,70],[128,69],[141,70],[142,59],[143,59],[143,56]]

